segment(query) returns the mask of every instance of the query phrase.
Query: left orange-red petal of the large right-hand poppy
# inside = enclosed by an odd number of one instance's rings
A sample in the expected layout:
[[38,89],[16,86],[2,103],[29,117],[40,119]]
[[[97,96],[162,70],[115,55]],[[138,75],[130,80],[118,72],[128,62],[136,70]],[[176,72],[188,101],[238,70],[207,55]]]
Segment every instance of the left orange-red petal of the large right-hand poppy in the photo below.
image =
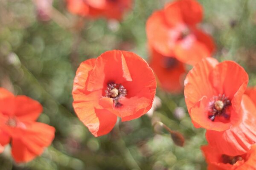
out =
[[195,65],[186,76],[184,81],[184,95],[188,111],[195,105],[203,96],[212,97],[215,90],[209,81],[209,73],[218,64],[218,61],[213,58],[206,58]]

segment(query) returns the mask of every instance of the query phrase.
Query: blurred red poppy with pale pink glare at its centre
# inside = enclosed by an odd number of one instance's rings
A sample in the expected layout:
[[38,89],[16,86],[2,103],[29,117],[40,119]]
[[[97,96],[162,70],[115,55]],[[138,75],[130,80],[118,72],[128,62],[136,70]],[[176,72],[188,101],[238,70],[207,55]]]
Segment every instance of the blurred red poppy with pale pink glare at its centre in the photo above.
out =
[[181,62],[195,65],[210,57],[215,45],[212,38],[196,28],[203,10],[196,0],[177,0],[148,18],[148,42],[164,56],[175,54]]

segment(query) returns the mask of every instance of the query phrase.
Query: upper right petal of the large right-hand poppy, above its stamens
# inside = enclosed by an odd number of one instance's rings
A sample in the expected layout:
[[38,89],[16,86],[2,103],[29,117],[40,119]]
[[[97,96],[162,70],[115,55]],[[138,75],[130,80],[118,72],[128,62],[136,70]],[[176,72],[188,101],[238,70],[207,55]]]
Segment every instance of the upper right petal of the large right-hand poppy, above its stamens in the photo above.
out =
[[236,62],[224,61],[212,70],[209,79],[218,94],[225,94],[232,99],[232,107],[238,111],[248,83],[248,74],[244,68]]

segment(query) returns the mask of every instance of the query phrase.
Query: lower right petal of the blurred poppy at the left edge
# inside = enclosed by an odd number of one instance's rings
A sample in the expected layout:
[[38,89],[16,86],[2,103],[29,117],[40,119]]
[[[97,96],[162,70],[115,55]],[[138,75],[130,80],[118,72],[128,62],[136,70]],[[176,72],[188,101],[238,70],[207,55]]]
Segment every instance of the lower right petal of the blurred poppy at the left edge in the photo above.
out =
[[17,163],[28,162],[43,153],[54,139],[55,129],[44,123],[25,123],[26,128],[12,137],[12,156]]

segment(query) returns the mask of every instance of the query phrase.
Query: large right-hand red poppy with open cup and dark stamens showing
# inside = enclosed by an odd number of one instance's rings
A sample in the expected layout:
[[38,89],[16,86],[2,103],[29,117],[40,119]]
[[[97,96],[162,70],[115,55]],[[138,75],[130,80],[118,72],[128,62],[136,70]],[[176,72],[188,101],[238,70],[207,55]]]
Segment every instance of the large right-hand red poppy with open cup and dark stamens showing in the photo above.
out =
[[186,105],[195,127],[224,131],[239,124],[247,83],[247,73],[236,62],[218,63],[210,57],[198,62],[184,81]]

